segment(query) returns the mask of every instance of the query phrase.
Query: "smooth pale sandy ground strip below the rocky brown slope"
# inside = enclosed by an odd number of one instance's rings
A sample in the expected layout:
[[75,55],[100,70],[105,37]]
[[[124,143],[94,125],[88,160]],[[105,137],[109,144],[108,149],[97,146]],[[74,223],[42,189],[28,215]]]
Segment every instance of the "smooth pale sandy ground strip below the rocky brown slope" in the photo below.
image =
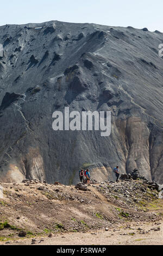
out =
[[[151,230],[151,228],[158,227],[160,227],[158,231]],[[139,228],[142,230],[138,230]],[[143,230],[145,234],[140,234]],[[39,242],[41,239],[43,241]],[[9,245],[31,245],[31,243],[32,239],[24,239],[23,241],[10,242]],[[5,243],[0,243],[0,245],[2,244]],[[51,238],[36,237],[35,245],[163,245],[163,222],[161,224],[130,223],[130,227],[127,227],[127,225],[123,228],[117,226],[115,229],[109,229],[108,231],[58,234]]]

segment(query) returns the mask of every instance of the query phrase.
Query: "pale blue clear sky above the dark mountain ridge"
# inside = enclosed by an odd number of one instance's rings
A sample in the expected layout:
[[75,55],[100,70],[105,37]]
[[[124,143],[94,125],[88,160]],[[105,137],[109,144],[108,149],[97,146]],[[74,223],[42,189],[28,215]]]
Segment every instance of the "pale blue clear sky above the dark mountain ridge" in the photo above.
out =
[[162,0],[6,0],[0,2],[0,26],[59,20],[163,32],[162,10]]

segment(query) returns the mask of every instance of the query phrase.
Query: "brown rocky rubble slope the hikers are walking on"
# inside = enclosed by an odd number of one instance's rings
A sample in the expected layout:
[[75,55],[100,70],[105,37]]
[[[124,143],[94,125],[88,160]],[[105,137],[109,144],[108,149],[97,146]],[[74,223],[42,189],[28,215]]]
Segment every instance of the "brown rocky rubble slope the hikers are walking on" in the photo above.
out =
[[[18,237],[39,238],[72,232],[80,235],[91,230],[116,229],[117,225],[121,228],[127,225],[130,230],[121,232],[131,234],[130,225],[136,230],[136,226],[143,223],[157,224],[155,231],[160,230],[158,225],[162,223],[163,205],[156,184],[132,179],[93,183],[86,187],[86,191],[59,182],[46,184],[23,180],[22,183],[0,183],[3,187],[0,243]],[[136,232],[143,234],[142,230]]]

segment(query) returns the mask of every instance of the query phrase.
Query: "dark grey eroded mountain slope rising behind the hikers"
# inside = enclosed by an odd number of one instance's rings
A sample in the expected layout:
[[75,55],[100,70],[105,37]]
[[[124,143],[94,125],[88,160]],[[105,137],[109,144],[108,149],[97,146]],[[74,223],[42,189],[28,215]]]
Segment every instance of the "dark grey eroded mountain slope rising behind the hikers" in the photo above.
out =
[[[51,21],[2,26],[0,42],[2,181],[105,181],[117,165],[163,181],[162,33]],[[54,131],[65,106],[111,111],[111,135]]]

